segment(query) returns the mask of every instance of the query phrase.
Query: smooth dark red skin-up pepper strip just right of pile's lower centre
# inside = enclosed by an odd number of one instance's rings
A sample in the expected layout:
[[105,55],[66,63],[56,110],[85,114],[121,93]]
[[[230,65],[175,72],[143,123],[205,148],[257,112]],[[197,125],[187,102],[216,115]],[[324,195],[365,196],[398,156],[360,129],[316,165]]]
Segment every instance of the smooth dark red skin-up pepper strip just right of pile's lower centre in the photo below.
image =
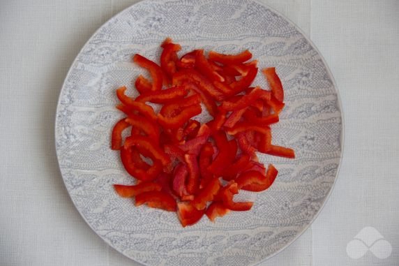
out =
[[213,139],[216,142],[216,146],[218,147],[219,152],[211,165],[209,165],[208,170],[215,175],[219,175],[220,172],[223,172],[223,169],[227,165],[230,165],[232,161],[234,161],[237,152],[237,145],[236,140],[232,140],[232,142],[227,141],[225,132],[223,131],[218,131],[214,133]]

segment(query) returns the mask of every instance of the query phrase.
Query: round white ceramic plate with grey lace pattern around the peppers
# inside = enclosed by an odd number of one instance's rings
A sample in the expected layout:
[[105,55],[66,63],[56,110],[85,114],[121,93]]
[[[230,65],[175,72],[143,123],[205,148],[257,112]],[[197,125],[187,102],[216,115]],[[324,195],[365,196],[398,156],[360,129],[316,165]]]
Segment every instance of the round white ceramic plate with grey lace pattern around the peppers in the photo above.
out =
[[[132,55],[158,59],[171,37],[183,52],[253,52],[259,68],[276,66],[285,109],[272,126],[273,142],[292,147],[296,159],[259,154],[279,170],[271,189],[243,193],[250,212],[182,228],[175,213],[134,207],[112,184],[133,184],[110,133],[122,114],[117,87],[142,69]],[[266,88],[262,75],[254,84]],[[199,119],[205,119],[199,117]],[[59,166],[75,206],[105,242],[144,265],[256,265],[308,228],[336,180],[342,152],[342,117],[333,77],[310,40],[285,17],[250,0],[145,0],[123,10],[84,45],[63,84],[56,121]],[[241,193],[240,193],[241,194]]]

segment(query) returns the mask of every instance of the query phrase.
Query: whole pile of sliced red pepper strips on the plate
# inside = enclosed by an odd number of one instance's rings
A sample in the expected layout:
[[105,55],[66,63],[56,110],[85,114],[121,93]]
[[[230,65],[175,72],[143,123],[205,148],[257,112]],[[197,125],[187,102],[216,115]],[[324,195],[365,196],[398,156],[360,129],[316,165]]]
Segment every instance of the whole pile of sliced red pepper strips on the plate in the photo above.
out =
[[[262,72],[271,91],[250,87],[258,68],[252,54],[220,54],[193,50],[180,58],[181,46],[167,38],[161,45],[160,66],[135,54],[133,61],[149,71],[135,87],[140,96],[116,90],[127,117],[112,131],[112,149],[120,150],[135,186],[115,184],[122,197],[135,197],[135,205],[177,212],[182,226],[196,223],[204,214],[215,221],[230,210],[247,211],[253,202],[234,202],[239,189],[264,191],[278,174],[267,170],[255,152],[294,158],[294,151],[271,144],[270,124],[278,122],[284,93],[275,68]],[[146,103],[162,105],[157,114]],[[202,112],[213,119],[200,124]],[[123,141],[122,131],[130,129]],[[146,159],[147,160],[146,160]],[[148,162],[150,159],[150,163]]]

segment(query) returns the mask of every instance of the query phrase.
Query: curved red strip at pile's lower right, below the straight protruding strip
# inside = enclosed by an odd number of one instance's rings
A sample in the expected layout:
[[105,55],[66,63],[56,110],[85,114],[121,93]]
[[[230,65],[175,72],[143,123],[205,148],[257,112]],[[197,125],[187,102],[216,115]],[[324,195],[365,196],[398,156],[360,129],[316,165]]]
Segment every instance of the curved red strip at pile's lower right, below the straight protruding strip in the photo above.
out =
[[259,172],[248,171],[244,172],[241,175],[242,177],[240,176],[237,178],[236,182],[239,185],[239,189],[259,192],[269,189],[274,180],[276,180],[277,175],[278,170],[273,165],[269,165],[267,168],[266,177],[259,174]]

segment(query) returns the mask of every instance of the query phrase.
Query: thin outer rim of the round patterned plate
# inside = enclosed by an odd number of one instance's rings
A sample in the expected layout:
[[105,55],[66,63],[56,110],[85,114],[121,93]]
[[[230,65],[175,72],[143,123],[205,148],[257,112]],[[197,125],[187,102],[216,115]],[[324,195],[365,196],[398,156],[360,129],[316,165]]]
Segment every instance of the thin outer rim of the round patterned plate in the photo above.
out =
[[[176,0],[176,1],[181,1],[181,0]],[[306,41],[309,43],[309,45],[315,50],[315,52],[317,52],[319,58],[322,60],[322,63],[324,65],[324,68],[326,69],[326,73],[328,73],[329,78],[331,79],[331,82],[333,84],[333,87],[335,89],[336,95],[337,95],[337,102],[338,102],[338,108],[340,111],[340,119],[341,119],[341,123],[340,123],[340,158],[338,161],[338,167],[337,167],[337,171],[336,171],[336,175],[334,177],[334,181],[333,184],[331,185],[329,192],[326,194],[322,205],[320,206],[320,208],[317,210],[317,212],[315,213],[315,215],[313,216],[313,218],[311,219],[311,221],[306,225],[303,226],[303,229],[295,236],[293,237],[289,242],[287,242],[282,248],[278,249],[277,251],[274,251],[273,253],[271,253],[269,256],[266,256],[264,258],[262,258],[261,260],[252,263],[250,265],[259,265],[261,263],[264,263],[266,260],[269,260],[271,258],[273,258],[274,256],[278,255],[280,252],[284,251],[285,249],[287,249],[288,246],[291,246],[294,242],[296,242],[297,239],[299,239],[299,237],[301,237],[303,235],[304,232],[306,232],[310,226],[312,226],[312,224],[315,222],[315,220],[317,219],[317,217],[319,216],[319,214],[322,212],[322,210],[324,209],[324,206],[326,205],[326,203],[329,201],[329,198],[331,197],[331,193],[333,192],[334,187],[336,186],[337,183],[337,179],[340,173],[340,169],[342,166],[342,158],[344,155],[344,142],[345,142],[345,119],[344,119],[344,112],[342,109],[342,100],[340,97],[340,92],[338,89],[338,86],[336,84],[336,80],[333,77],[333,73],[331,72],[331,69],[329,68],[329,65],[326,63],[326,60],[324,59],[324,56],[322,55],[322,53],[319,51],[319,49],[317,48],[317,46],[315,45],[315,43],[313,43],[313,40],[310,39],[310,36],[307,36],[305,34],[305,32],[301,29],[301,27],[299,27],[296,23],[294,23],[289,17],[287,17],[286,15],[283,15],[282,13],[280,13],[280,11],[271,8],[269,6],[269,4],[264,3],[264,1],[262,0],[245,0],[245,1],[252,1],[255,3],[258,3],[261,6],[264,6],[266,8],[268,8],[269,10],[271,10],[271,12],[275,13],[276,15],[283,17],[284,20],[286,20],[287,22],[289,22],[289,24],[291,24],[292,26],[294,26],[294,28],[296,29],[296,31],[299,32],[299,34],[301,34],[303,36],[303,38],[306,39]],[[123,256],[125,256],[126,258],[129,258],[130,260],[133,260],[135,263],[139,263],[141,265],[146,265],[138,260],[135,260],[133,258],[130,258],[127,254],[119,251],[118,249],[116,249],[115,246],[112,245],[112,243],[108,240],[105,239],[105,237],[101,236],[96,230],[94,230],[94,228],[91,226],[91,224],[89,223],[89,221],[87,221],[86,217],[82,214],[82,212],[80,211],[80,209],[77,207],[77,205],[75,204],[75,201],[73,200],[72,196],[70,195],[70,192],[68,190],[68,186],[66,186],[66,180],[63,178],[63,173],[61,171],[61,165],[60,165],[60,161],[59,161],[59,151],[57,149],[57,121],[58,121],[58,114],[59,114],[59,108],[61,106],[61,96],[63,94],[63,91],[65,90],[66,87],[66,81],[68,80],[68,77],[70,75],[70,73],[73,71],[73,68],[75,66],[75,64],[77,64],[77,58],[79,57],[79,55],[82,53],[82,51],[84,50],[84,48],[86,47],[86,45],[88,45],[90,43],[90,41],[93,39],[94,36],[96,36],[96,34],[98,34],[98,32],[103,29],[103,27],[105,26],[105,24],[108,24],[111,20],[114,19],[114,17],[117,17],[119,15],[121,15],[121,13],[125,12],[126,10],[132,8],[133,6],[139,4],[139,3],[144,3],[144,2],[161,2],[163,3],[163,0],[140,0],[137,1],[136,3],[131,4],[130,6],[123,8],[123,10],[119,11],[118,13],[112,15],[112,17],[110,17],[107,21],[105,21],[103,24],[100,25],[100,27],[98,27],[98,29],[96,29],[96,31],[93,32],[93,34],[91,34],[91,36],[86,40],[86,43],[84,43],[84,45],[82,46],[82,48],[79,50],[79,52],[77,52],[75,59],[73,59],[72,64],[70,64],[70,67],[68,69],[68,72],[66,73],[66,76],[63,80],[61,89],[59,90],[59,96],[58,96],[58,101],[57,101],[57,108],[55,111],[55,119],[54,119],[54,149],[56,151],[57,154],[57,164],[58,164],[58,168],[59,168],[59,173],[61,175],[61,179],[63,181],[63,185],[65,186],[66,191],[68,192],[68,197],[70,198],[70,200],[73,202],[73,205],[75,207],[75,209],[77,210],[77,212],[80,214],[80,216],[82,217],[82,219],[85,221],[86,225],[89,226],[89,228],[96,233],[96,235],[98,235],[98,237],[100,237],[100,239],[103,240],[103,242],[105,242],[108,246],[111,246],[112,249],[114,249],[115,251],[117,251],[118,253],[121,253]]]

